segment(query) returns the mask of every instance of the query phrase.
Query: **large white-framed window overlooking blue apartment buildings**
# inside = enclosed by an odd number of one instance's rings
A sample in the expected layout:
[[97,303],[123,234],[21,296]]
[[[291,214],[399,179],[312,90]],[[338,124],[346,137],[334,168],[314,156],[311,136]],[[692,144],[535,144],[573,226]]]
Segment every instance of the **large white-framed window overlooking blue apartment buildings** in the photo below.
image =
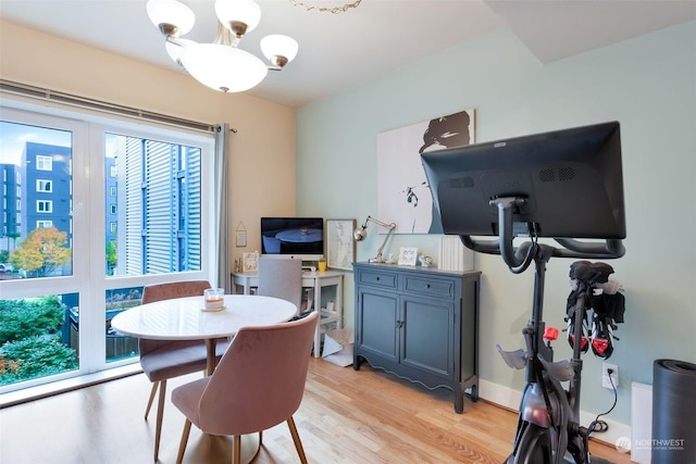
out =
[[[0,164],[22,166],[23,183],[10,179],[3,201],[16,204],[16,221],[10,215],[7,224],[16,227],[10,262],[22,262],[14,268],[26,278],[0,280],[0,315],[22,300],[58,301],[62,317],[46,334],[72,361],[40,378],[0,373],[0,394],[137,361],[137,340],[114,334],[111,318],[138,304],[140,289],[153,280],[181,279],[182,272],[215,278],[212,134],[141,122],[110,127],[103,118],[92,124],[78,113],[61,118],[8,103],[0,113]],[[16,150],[8,149],[10,135],[21,141]],[[52,253],[49,260],[30,259],[37,237],[50,240],[41,250]],[[94,273],[95,265],[105,272]]]

